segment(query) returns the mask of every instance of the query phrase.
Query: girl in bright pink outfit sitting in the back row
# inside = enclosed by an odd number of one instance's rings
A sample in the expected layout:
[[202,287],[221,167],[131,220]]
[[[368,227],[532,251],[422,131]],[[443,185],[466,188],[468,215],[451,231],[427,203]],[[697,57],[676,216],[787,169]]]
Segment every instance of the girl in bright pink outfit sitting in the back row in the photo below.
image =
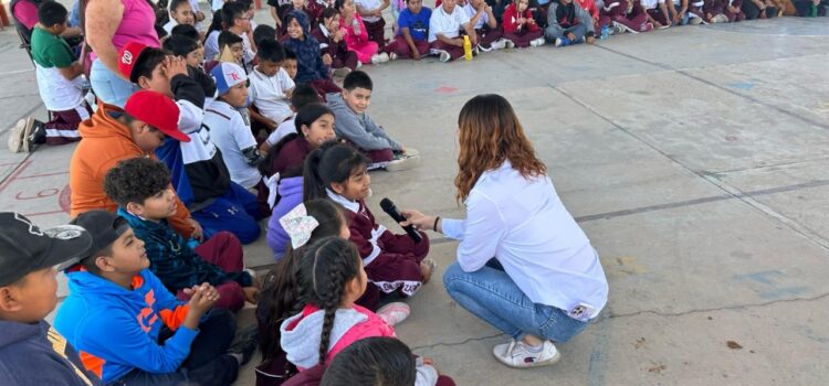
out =
[[380,45],[368,36],[363,18],[355,9],[354,0],[337,0],[334,8],[339,12],[339,28],[345,31],[346,45],[348,50],[357,54],[360,63],[378,64],[389,61],[389,55],[380,52]]

